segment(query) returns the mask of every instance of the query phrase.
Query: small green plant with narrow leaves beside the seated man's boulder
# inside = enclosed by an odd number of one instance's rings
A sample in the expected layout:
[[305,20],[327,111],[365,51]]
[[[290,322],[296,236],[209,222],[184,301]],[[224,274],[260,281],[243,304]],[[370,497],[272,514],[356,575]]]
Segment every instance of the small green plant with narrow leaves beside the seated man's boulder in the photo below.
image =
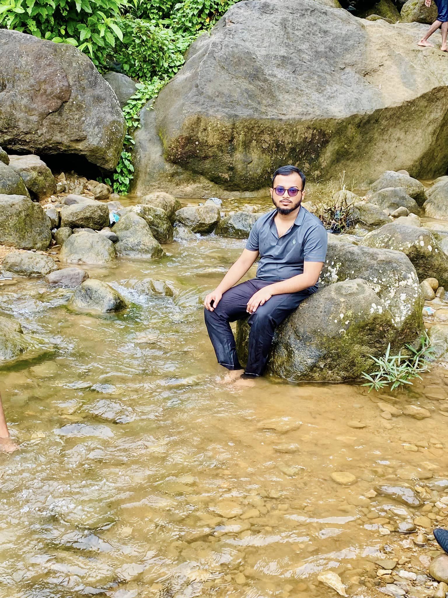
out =
[[390,343],[383,357],[377,359],[370,355],[378,365],[378,370],[371,374],[363,372],[364,379],[368,380],[363,386],[369,386],[369,392],[373,389],[382,390],[389,385],[391,390],[396,390],[404,385],[412,385],[411,380],[415,378],[422,379],[420,374],[429,370],[434,359],[434,347],[431,347],[428,335],[421,337],[419,349],[414,349],[410,344],[406,347],[409,355],[401,355],[401,351],[398,355],[390,355]]

